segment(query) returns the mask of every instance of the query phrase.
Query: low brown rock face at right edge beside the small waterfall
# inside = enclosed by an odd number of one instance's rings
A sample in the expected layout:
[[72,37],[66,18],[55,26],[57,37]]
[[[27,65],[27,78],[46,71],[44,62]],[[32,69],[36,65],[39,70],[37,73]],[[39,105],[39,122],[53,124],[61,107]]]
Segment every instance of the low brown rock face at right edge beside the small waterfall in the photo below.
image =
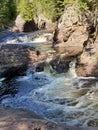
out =
[[78,76],[98,77],[98,41],[87,45],[78,57],[76,73]]

